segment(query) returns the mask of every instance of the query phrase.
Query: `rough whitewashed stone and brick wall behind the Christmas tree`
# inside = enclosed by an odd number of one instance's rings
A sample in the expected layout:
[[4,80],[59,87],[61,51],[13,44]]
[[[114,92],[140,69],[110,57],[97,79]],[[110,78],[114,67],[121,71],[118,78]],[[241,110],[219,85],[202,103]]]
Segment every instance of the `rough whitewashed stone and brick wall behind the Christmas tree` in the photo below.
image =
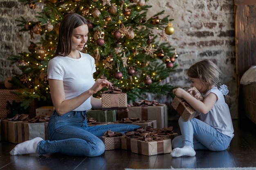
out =
[[[175,19],[172,22],[175,32],[168,36],[168,41],[176,46],[179,54],[176,62],[179,66],[165,82],[179,87],[189,86],[186,76],[189,66],[209,58],[225,75],[224,83],[229,87],[233,103],[231,115],[234,119],[238,118],[233,0],[148,0],[146,3],[153,6],[148,11],[148,17],[164,10],[164,15]],[[0,83],[13,73],[20,72],[7,58],[23,51],[28,52],[30,45],[29,33],[19,32],[16,20],[20,16],[33,20],[37,10],[42,8],[38,5],[32,10],[18,0],[0,0]],[[38,35],[34,36],[38,38]],[[148,95],[147,98],[157,99],[168,106],[171,102],[168,95]]]

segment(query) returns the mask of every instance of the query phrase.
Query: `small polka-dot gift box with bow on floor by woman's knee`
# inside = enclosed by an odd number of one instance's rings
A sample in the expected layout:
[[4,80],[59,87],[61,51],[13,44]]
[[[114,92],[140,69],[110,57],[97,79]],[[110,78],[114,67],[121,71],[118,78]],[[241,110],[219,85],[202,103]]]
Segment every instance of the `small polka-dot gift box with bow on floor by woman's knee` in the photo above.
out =
[[102,137],[99,137],[105,144],[105,150],[121,149],[121,132],[112,132],[108,130],[104,132]]

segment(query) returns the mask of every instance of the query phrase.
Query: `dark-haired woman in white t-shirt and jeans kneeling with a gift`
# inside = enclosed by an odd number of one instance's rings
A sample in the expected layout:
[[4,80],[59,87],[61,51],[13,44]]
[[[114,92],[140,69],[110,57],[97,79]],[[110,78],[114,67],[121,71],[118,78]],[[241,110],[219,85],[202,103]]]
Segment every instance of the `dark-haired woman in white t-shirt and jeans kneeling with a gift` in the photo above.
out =
[[92,97],[103,87],[110,87],[106,79],[94,81],[94,58],[81,53],[88,40],[88,22],[76,13],[66,14],[61,21],[55,56],[49,61],[47,75],[55,110],[50,117],[48,140],[36,137],[18,144],[11,155],[63,153],[95,157],[105,151],[99,139],[107,130],[126,132],[136,125],[112,124],[88,127],[87,110],[101,108],[101,100]]

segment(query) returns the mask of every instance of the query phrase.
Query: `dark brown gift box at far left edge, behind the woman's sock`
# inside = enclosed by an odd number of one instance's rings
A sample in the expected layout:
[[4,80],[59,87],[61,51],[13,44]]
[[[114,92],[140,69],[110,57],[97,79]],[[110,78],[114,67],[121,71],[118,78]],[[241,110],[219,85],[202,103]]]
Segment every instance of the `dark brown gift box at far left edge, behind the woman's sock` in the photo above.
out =
[[2,120],[2,139],[4,141],[9,141],[13,144],[18,144],[18,122],[22,121],[9,121],[7,119]]

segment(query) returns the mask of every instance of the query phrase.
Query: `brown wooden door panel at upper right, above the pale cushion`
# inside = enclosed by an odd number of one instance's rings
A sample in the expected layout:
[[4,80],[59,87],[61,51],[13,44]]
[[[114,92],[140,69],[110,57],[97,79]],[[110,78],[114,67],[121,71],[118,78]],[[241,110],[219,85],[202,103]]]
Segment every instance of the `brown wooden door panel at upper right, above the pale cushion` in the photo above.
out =
[[243,73],[256,64],[256,0],[234,0],[234,3],[236,71],[240,81]]

